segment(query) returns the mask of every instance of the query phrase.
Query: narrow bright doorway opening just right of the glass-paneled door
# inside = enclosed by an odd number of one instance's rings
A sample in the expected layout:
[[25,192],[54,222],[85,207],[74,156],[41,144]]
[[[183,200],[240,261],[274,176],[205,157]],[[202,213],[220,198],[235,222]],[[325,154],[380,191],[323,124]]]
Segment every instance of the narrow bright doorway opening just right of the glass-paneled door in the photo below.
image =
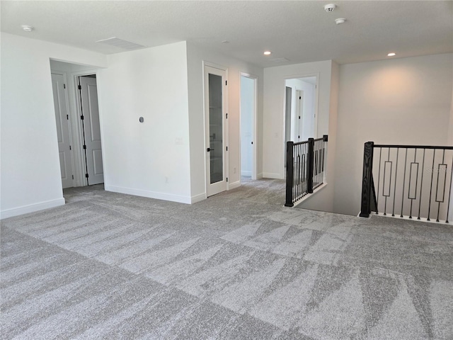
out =
[[241,73],[241,177],[256,179],[257,78]]

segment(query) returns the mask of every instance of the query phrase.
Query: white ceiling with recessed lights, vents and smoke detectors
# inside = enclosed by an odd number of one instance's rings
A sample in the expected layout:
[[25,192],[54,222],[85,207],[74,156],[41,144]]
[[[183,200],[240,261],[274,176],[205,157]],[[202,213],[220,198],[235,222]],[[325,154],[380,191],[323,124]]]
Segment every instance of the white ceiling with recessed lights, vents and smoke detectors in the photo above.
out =
[[[331,3],[338,7],[326,13]],[[117,37],[147,47],[188,40],[261,67],[276,66],[276,58],[345,64],[388,52],[453,52],[453,1],[2,0],[1,30],[105,54],[124,50],[96,41]]]

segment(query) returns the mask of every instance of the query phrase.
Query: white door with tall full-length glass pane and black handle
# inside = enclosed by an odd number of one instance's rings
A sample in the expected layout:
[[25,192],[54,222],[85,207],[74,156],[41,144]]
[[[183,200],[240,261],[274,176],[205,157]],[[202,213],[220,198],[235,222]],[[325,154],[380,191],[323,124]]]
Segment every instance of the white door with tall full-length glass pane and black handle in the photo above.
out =
[[205,66],[206,194],[226,190],[226,71]]

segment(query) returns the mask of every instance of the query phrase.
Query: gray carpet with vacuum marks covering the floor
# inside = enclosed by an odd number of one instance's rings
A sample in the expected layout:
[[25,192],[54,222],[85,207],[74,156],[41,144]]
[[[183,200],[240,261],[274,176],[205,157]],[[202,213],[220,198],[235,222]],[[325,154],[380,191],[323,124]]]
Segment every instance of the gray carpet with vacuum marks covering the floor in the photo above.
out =
[[1,221],[2,339],[453,339],[453,227],[65,191]]

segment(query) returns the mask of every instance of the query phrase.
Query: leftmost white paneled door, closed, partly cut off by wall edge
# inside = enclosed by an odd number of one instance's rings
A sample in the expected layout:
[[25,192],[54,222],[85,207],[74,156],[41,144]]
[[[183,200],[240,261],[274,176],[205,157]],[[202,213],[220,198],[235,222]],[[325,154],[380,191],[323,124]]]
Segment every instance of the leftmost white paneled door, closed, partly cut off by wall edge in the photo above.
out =
[[63,188],[71,188],[74,186],[74,180],[72,179],[73,165],[71,139],[69,136],[67,93],[63,74],[52,73],[52,90],[54,94],[55,120],[57,122],[59,168],[62,174],[62,186]]

